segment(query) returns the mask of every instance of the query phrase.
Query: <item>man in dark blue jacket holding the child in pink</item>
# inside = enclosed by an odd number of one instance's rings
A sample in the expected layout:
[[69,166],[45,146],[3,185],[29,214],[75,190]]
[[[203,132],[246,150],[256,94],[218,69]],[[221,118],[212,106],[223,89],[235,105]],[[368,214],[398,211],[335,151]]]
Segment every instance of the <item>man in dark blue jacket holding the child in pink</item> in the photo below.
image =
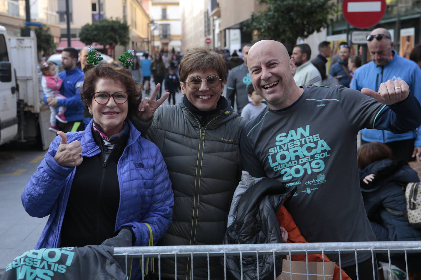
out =
[[79,88],[83,84],[85,75],[76,67],[78,58],[77,50],[74,48],[66,48],[61,53],[61,64],[64,71],[59,73],[59,77],[63,80],[60,88],[60,94],[66,99],[56,99],[53,96],[47,99],[44,96],[45,103],[49,106],[67,107],[64,112],[67,123],[57,122],[57,127],[63,132],[83,131],[83,102],[80,99]]

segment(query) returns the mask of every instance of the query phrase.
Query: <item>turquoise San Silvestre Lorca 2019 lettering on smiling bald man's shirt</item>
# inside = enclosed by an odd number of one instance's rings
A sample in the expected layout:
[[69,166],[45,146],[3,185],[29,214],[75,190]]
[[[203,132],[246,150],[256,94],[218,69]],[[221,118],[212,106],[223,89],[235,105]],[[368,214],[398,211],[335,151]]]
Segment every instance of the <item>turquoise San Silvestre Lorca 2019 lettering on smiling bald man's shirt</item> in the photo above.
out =
[[[280,133],[273,148],[268,150],[269,165],[279,171],[282,180],[290,180],[325,169],[324,158],[330,147],[319,134],[310,135],[310,125]],[[324,181],[325,178],[317,178]]]

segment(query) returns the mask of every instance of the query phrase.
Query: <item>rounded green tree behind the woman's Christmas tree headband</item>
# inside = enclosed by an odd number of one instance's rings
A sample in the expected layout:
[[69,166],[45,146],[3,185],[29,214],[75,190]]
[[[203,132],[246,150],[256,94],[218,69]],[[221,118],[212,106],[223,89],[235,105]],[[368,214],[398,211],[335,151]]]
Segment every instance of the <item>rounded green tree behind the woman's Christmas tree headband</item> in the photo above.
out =
[[127,45],[130,42],[129,26],[125,21],[116,19],[103,19],[85,24],[80,29],[80,41],[90,45],[93,42],[105,46]]

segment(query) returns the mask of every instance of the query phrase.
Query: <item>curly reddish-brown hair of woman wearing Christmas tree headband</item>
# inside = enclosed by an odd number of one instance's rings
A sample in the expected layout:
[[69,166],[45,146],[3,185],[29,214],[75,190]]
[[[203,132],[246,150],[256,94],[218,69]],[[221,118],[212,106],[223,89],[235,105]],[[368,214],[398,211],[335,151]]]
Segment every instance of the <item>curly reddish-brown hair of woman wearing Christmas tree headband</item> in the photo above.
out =
[[143,84],[133,80],[131,72],[125,67],[115,67],[108,63],[101,63],[85,73],[80,97],[85,105],[91,105],[92,94],[95,92],[98,79],[112,79],[117,84],[122,84],[128,93],[128,111],[136,112],[142,98]]

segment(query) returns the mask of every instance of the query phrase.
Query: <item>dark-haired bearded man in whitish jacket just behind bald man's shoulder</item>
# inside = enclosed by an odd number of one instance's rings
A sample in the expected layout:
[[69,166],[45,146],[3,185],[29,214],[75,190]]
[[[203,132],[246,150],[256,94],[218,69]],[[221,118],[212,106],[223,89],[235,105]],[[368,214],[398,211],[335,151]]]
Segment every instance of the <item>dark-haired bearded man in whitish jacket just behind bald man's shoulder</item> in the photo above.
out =
[[291,58],[295,61],[294,80],[297,86],[321,86],[322,76],[311,63],[312,50],[308,44],[295,45]]

